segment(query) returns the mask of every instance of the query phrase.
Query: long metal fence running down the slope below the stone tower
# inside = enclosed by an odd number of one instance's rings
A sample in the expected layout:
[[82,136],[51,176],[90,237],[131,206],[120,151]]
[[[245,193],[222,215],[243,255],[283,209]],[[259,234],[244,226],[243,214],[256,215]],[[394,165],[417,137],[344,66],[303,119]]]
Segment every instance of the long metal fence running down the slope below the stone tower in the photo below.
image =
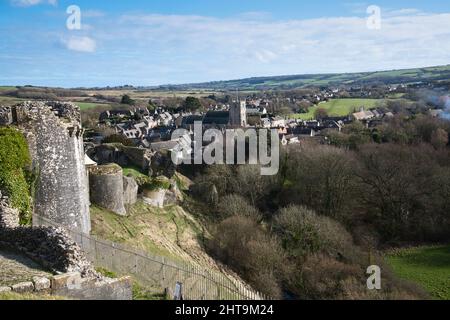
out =
[[118,274],[132,275],[145,286],[168,289],[169,292],[175,291],[175,286],[180,283],[185,300],[269,299],[219,271],[174,262],[165,257],[127,248],[122,244],[67,228],[44,217],[38,217],[38,220],[42,225],[65,229],[95,266]]

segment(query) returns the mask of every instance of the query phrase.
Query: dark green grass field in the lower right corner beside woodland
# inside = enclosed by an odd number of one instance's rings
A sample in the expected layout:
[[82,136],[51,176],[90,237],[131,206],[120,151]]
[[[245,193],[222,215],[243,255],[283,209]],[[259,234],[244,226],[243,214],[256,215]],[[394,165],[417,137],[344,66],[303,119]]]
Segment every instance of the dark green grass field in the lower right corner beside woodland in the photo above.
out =
[[400,278],[421,285],[435,299],[450,300],[450,246],[402,249],[387,261]]

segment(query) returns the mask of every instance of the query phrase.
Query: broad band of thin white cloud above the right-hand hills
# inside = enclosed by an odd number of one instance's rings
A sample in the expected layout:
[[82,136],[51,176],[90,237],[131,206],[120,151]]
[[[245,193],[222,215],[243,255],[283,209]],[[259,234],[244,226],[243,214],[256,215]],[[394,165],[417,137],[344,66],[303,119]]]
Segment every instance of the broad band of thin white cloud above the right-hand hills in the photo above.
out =
[[449,13],[405,9],[382,11],[381,30],[369,30],[364,16],[262,21],[239,16],[125,15],[112,36],[106,32],[101,36],[110,41],[123,37],[164,58],[181,56],[174,69],[195,65],[199,73],[221,70],[216,76],[233,78],[447,64],[449,30]]

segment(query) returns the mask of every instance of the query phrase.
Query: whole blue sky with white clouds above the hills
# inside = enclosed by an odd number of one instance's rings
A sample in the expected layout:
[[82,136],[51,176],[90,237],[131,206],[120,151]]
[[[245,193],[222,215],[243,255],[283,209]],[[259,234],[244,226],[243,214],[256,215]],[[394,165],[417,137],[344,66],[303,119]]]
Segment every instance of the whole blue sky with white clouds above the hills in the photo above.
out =
[[153,86],[446,64],[448,0],[0,0],[0,85]]

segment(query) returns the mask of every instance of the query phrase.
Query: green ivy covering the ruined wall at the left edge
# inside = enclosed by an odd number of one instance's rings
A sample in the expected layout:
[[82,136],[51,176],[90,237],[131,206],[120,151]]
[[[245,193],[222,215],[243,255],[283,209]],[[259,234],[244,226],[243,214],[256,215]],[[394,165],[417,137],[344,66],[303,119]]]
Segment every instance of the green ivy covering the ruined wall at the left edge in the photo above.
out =
[[0,189],[19,210],[22,224],[31,221],[30,181],[27,181],[31,177],[30,164],[23,134],[12,128],[0,128]]

